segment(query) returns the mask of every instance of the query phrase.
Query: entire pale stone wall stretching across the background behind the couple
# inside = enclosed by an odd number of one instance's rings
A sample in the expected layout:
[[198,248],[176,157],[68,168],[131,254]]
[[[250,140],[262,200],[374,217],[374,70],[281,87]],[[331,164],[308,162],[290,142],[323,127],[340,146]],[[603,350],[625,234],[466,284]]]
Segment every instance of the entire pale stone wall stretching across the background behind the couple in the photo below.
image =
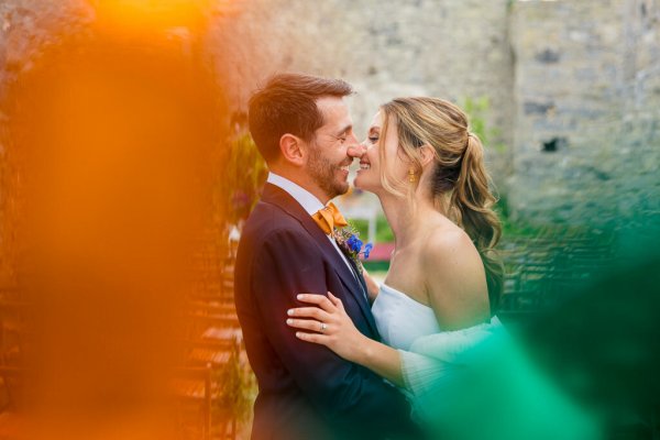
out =
[[[487,158],[516,217],[658,210],[658,1],[205,1],[201,46],[239,110],[282,70],[352,82],[359,133],[395,96],[486,97]],[[91,20],[84,0],[1,1],[0,84]]]

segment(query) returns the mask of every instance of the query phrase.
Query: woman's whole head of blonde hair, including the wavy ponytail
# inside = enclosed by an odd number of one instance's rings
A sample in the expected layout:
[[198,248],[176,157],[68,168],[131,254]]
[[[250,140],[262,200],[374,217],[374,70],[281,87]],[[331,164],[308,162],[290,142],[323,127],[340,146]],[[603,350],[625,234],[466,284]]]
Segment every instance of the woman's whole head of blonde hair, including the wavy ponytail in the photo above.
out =
[[[492,207],[497,201],[484,164],[480,139],[470,132],[468,117],[453,103],[439,98],[397,98],[381,107],[384,113],[381,145],[385,145],[388,123],[398,131],[399,153],[410,161],[411,172],[422,172],[421,147],[428,145],[435,154],[430,193],[438,209],[470,235],[476,246],[488,284],[491,310],[495,310],[503,287],[504,267],[495,252],[502,226]],[[398,180],[387,173],[385,148],[380,148],[381,182],[395,195],[415,191],[414,183]]]

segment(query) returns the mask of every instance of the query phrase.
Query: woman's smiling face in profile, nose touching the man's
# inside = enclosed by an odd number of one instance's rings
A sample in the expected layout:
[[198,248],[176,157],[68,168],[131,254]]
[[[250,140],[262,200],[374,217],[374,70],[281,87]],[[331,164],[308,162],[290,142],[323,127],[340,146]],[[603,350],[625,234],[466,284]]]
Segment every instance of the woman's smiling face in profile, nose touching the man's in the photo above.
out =
[[381,182],[381,166],[383,165],[381,163],[381,148],[385,150],[386,174],[395,182],[405,179],[407,175],[407,166],[398,154],[398,131],[396,123],[389,120],[387,123],[387,133],[383,135],[384,118],[385,114],[381,110],[372,120],[367,138],[362,143],[366,152],[360,160],[360,170],[354,182],[356,188],[375,194],[383,190],[383,183]]

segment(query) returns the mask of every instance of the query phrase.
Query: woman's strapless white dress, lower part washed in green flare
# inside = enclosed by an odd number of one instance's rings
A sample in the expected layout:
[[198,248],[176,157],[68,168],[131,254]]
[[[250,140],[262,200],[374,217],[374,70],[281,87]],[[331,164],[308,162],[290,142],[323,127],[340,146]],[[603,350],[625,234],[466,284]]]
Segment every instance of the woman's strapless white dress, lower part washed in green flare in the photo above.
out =
[[431,438],[602,438],[598,424],[527,360],[496,317],[442,331],[430,307],[387,285],[372,312],[383,342],[400,353],[411,416]]

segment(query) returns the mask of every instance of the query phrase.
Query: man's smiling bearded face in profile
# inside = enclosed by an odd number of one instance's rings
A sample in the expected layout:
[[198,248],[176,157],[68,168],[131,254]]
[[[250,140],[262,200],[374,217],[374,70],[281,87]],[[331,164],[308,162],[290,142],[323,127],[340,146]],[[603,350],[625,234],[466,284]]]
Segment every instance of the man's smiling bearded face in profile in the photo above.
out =
[[349,190],[349,166],[353,162],[349,146],[355,146],[358,140],[342,98],[320,98],[317,106],[323,116],[323,125],[309,144],[307,173],[331,199]]

